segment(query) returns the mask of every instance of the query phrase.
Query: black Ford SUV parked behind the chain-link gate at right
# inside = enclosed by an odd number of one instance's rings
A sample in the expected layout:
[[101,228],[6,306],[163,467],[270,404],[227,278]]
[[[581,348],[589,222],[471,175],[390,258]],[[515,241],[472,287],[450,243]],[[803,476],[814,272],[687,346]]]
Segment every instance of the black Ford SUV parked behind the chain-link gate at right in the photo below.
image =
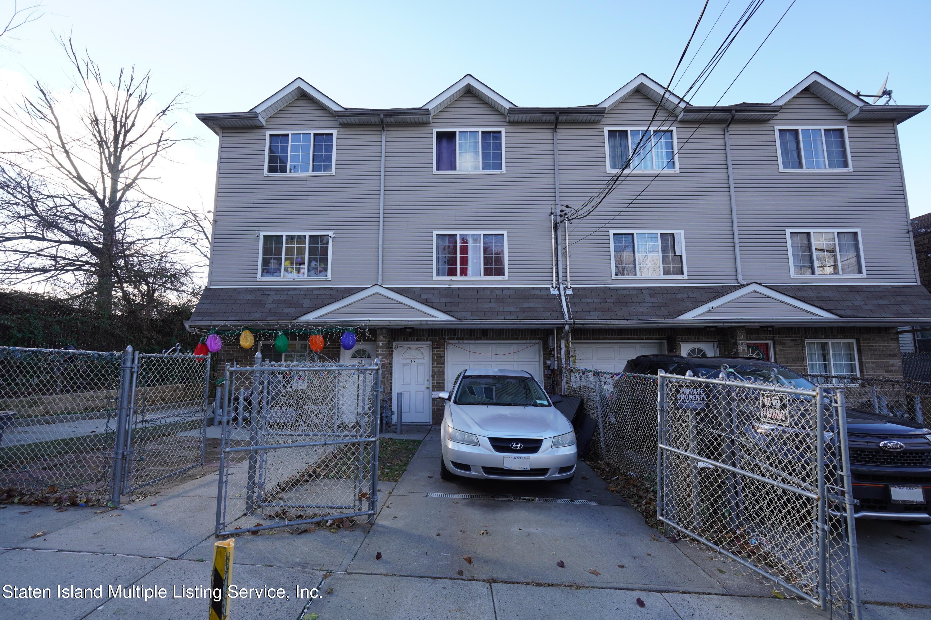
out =
[[[626,373],[719,377],[722,366],[745,379],[770,380],[798,389],[815,385],[777,363],[749,357],[684,357],[641,355]],[[847,445],[853,473],[857,518],[931,523],[931,429],[902,417],[883,416],[847,407]],[[893,495],[896,495],[895,497]]]

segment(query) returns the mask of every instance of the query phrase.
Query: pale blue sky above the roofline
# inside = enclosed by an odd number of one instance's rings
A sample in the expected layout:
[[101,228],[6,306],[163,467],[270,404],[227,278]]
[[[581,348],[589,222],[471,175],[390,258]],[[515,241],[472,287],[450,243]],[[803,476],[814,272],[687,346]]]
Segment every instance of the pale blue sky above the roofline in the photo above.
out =
[[[727,0],[711,0],[700,43]],[[766,0],[701,91],[713,104],[790,0]],[[20,3],[21,4],[21,3]],[[165,97],[192,95],[178,131],[197,138],[162,183],[172,201],[212,202],[216,139],[194,112],[248,110],[300,76],[350,107],[415,106],[472,73],[518,105],[597,103],[637,73],[666,83],[701,9],[658,2],[126,2],[45,0],[47,16],[0,50],[7,92],[67,86],[54,36],[72,33],[104,69],[151,70]],[[7,10],[9,0],[0,1]],[[683,83],[747,0],[731,0]],[[843,9],[841,8],[843,7]],[[6,15],[7,10],[4,11]],[[722,103],[772,101],[812,71],[898,103],[931,103],[931,3],[798,0]],[[7,84],[4,85],[4,82]],[[681,90],[681,89],[680,89]],[[911,215],[931,211],[931,111],[899,128]]]

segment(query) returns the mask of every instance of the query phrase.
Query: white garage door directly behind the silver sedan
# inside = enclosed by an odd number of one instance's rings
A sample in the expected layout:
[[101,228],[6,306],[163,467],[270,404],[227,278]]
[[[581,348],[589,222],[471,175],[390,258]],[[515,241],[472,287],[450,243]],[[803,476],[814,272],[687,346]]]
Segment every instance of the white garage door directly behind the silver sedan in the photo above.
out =
[[543,384],[543,343],[464,341],[446,343],[446,388],[466,368],[526,370]]

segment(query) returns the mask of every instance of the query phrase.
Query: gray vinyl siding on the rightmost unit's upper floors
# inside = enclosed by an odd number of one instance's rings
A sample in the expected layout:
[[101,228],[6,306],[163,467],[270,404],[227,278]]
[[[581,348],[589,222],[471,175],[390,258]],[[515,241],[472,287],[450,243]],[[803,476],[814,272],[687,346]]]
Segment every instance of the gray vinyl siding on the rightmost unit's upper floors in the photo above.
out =
[[[845,125],[853,170],[779,172],[776,126]],[[891,121],[854,123],[805,90],[768,123],[731,125],[744,279],[914,283],[905,188]],[[867,277],[791,278],[786,230],[859,229]]]

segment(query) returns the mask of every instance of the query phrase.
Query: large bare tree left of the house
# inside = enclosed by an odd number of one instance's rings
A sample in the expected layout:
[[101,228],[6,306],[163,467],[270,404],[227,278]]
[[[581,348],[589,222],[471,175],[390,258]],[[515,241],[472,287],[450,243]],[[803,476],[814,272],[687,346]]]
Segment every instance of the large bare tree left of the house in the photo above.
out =
[[18,145],[0,152],[0,275],[91,296],[104,315],[115,302],[188,295],[179,257],[191,220],[148,191],[156,162],[182,141],[171,116],[184,93],[156,104],[150,73],[107,81],[87,52],[60,43],[74,70],[67,97],[37,82],[34,96],[0,109],[3,141]]

